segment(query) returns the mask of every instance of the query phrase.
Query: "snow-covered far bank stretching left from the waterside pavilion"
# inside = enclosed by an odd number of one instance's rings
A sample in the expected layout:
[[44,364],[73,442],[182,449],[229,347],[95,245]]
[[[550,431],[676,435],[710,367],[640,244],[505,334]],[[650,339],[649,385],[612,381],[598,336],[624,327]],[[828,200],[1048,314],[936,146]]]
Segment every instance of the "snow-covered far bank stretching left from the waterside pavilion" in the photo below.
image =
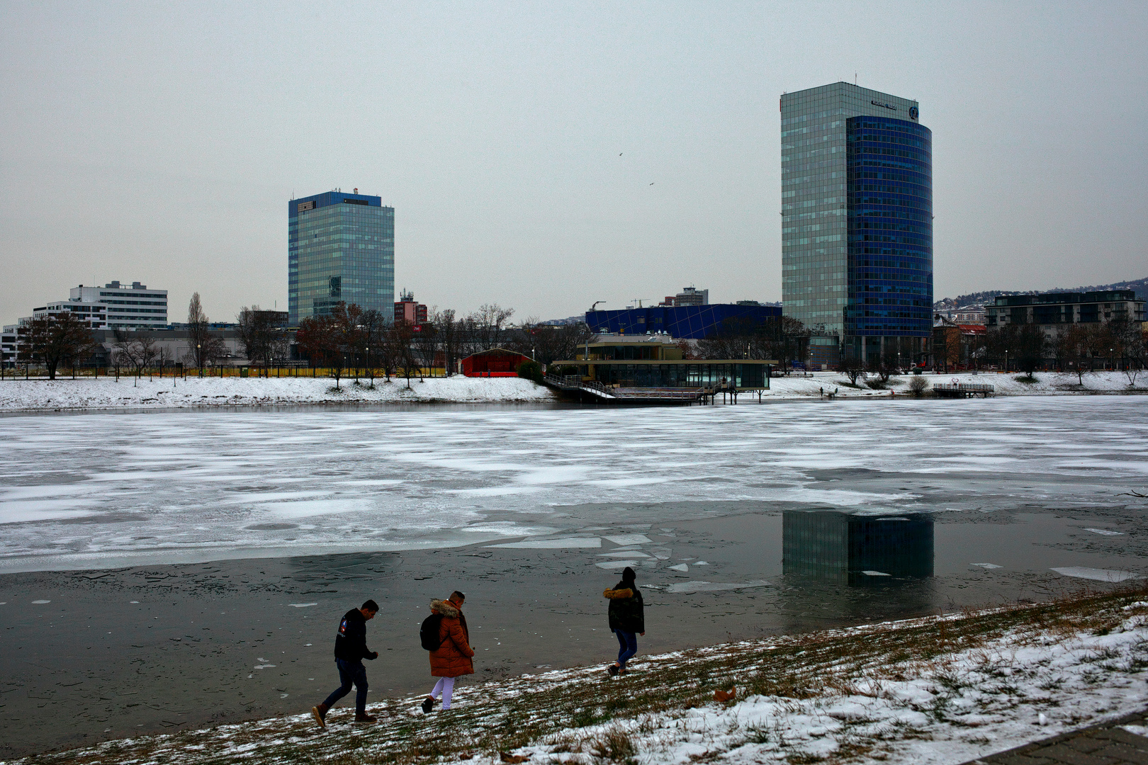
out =
[[329,377],[111,377],[99,380],[5,380],[0,412],[118,408],[192,408],[298,404],[402,404],[426,401],[549,401],[553,393],[520,377],[418,377],[383,382]]

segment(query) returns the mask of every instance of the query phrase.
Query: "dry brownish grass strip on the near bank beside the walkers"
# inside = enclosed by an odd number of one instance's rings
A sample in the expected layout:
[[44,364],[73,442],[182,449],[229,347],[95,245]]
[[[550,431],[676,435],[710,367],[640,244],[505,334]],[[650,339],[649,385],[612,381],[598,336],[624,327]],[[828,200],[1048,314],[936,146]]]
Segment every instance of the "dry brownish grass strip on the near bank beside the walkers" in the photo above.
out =
[[[930,672],[946,680],[946,657],[976,650],[1013,635],[1015,641],[1049,641],[1080,632],[1102,633],[1127,617],[1122,607],[1143,600],[1148,588],[1127,587],[1089,593],[1049,603],[965,611],[907,623],[881,624],[730,643],[651,657],[625,678],[608,680],[598,670],[569,670],[551,677],[483,684],[478,693],[459,694],[449,712],[412,715],[417,700],[388,700],[372,705],[380,723],[351,725],[352,712],[335,710],[326,732],[308,717],[274,719],[212,731],[189,731],[171,736],[148,736],[86,750],[30,757],[24,765],[96,765],[96,763],[155,763],[156,765],[230,765],[284,763],[292,765],[424,765],[468,755],[495,758],[527,746],[546,744],[551,752],[576,756],[581,762],[631,765],[638,750],[635,734],[652,729],[654,715],[681,716],[684,710],[715,704],[714,690],[729,688],[735,678],[738,697],[761,694],[794,702],[819,696],[882,693],[885,681]],[[1097,654],[1103,664],[1108,657]],[[987,651],[982,663],[992,670],[999,661]],[[1008,678],[1000,677],[1007,689]],[[944,696],[929,712],[946,715]],[[595,726],[587,736],[577,729]],[[602,726],[606,726],[603,728]],[[894,732],[899,739],[913,731]],[[779,732],[752,728],[743,744],[779,742]],[[891,734],[893,735],[893,734]],[[879,742],[878,742],[879,743]],[[240,749],[241,747],[249,747]],[[882,757],[874,741],[839,750],[833,762],[852,757]],[[852,754],[850,754],[852,752]],[[722,752],[707,752],[703,762]],[[792,752],[790,762],[822,762]]]

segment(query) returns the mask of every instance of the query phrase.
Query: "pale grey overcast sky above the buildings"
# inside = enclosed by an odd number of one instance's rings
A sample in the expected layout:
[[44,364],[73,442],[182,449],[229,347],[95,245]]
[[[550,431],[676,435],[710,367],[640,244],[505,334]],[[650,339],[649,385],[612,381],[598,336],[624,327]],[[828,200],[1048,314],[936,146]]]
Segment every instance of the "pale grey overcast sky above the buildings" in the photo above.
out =
[[287,201],[395,287],[567,317],[781,299],[778,96],[917,99],[934,292],[1148,275],[1148,3],[0,5],[0,321],[79,283],[286,307]]

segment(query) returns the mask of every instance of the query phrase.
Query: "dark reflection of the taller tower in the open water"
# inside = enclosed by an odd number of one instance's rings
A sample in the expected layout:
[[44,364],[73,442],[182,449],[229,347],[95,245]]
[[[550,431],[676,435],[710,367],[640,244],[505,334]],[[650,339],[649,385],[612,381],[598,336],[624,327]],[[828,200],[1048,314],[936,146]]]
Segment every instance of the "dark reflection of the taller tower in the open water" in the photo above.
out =
[[932,518],[786,510],[782,517],[782,571],[840,584],[931,577]]

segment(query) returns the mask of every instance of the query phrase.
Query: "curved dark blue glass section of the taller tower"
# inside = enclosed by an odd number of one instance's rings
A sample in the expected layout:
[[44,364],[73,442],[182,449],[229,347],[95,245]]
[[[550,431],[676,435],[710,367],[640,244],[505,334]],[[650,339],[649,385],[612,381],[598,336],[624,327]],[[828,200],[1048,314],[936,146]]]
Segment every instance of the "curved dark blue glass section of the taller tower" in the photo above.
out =
[[932,132],[851,117],[846,147],[845,336],[869,364],[916,360],[932,335]]

